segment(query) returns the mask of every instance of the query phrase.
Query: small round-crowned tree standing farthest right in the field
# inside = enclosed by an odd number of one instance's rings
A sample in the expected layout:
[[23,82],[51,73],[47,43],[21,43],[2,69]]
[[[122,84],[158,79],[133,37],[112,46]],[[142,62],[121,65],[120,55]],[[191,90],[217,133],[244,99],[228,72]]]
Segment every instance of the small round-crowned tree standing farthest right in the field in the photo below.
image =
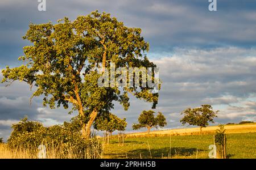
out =
[[184,117],[181,118],[180,122],[185,125],[195,125],[200,126],[200,133],[202,133],[202,128],[209,125],[209,122],[214,123],[213,118],[217,117],[218,111],[214,112],[211,105],[201,105],[200,108],[188,108],[185,109],[181,114]]

